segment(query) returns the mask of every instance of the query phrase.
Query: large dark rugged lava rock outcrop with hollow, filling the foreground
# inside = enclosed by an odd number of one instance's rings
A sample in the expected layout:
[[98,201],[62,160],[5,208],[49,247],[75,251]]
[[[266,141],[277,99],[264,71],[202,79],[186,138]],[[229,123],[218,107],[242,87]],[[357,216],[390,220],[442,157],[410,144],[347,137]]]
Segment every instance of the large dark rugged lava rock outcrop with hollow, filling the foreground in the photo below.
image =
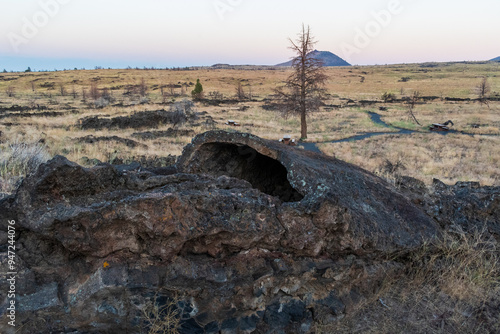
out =
[[139,333],[173,299],[182,333],[307,333],[438,234],[377,176],[249,134],[199,135],[165,174],[58,156],[0,201],[25,333]]

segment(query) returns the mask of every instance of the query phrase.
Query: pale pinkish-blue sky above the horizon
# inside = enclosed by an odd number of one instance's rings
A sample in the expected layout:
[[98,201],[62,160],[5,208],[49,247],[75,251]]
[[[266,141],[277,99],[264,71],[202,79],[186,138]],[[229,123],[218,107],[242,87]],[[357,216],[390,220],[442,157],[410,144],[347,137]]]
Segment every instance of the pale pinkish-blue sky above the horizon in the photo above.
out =
[[351,64],[500,56],[499,0],[0,0],[0,71],[273,65],[302,23]]

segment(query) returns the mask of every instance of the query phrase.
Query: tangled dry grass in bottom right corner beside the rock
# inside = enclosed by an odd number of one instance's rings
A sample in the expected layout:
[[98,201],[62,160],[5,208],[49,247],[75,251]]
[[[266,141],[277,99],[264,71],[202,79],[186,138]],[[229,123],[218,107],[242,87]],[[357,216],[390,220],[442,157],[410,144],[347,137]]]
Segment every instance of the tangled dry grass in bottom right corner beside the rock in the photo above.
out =
[[485,229],[443,233],[411,254],[378,292],[316,333],[499,333],[500,245]]

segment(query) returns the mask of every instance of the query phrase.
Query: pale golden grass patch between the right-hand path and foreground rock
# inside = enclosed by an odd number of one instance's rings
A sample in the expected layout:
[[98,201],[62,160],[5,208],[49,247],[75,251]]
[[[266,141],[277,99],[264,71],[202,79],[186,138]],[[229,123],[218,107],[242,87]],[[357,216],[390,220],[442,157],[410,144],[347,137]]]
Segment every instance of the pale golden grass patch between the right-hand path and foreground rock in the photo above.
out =
[[428,184],[479,181],[500,184],[500,137],[414,133],[384,135],[357,142],[321,144],[329,155],[379,173],[386,160],[401,162],[399,172]]

